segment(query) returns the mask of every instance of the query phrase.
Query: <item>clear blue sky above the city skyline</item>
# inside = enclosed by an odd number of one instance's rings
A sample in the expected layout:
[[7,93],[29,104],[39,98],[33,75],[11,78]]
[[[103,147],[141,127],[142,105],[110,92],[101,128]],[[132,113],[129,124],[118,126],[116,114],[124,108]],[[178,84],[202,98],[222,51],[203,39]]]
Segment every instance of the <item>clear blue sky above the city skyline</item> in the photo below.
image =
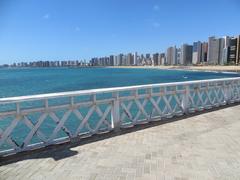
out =
[[239,0],[0,0],[0,64],[164,52],[239,22]]

